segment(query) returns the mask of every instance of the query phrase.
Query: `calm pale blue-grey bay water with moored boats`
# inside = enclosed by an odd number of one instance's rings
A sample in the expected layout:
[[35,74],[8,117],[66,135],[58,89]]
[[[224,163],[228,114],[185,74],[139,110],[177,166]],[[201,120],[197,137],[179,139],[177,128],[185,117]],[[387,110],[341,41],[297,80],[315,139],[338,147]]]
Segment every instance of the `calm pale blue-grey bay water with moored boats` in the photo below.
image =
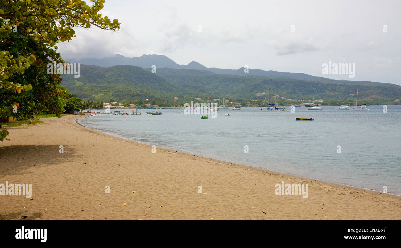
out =
[[369,111],[286,109],[221,109],[208,119],[183,109],[153,109],[162,115],[91,116],[78,122],[150,145],[378,191],[386,185],[389,193],[401,195],[401,106],[388,106],[387,113],[383,106]]

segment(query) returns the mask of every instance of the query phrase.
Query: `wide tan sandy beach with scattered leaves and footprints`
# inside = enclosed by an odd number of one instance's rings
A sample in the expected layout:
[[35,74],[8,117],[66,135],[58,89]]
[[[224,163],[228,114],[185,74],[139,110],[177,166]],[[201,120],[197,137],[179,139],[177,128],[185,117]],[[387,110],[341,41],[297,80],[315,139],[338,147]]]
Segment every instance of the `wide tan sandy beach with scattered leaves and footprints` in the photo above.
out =
[[[32,184],[33,199],[0,195],[0,220],[401,220],[401,197],[160,147],[152,153],[75,122],[83,117],[8,128],[0,183]],[[276,195],[282,181],[307,183],[308,197]]]

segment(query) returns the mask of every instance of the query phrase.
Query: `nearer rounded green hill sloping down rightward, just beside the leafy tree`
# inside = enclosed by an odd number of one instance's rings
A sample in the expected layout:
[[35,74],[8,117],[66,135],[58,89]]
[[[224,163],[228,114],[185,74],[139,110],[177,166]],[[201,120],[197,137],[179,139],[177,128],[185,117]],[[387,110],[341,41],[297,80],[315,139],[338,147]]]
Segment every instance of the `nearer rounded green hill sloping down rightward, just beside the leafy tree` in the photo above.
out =
[[153,99],[162,101],[175,97],[176,93],[182,94],[181,96],[193,94],[178,85],[169,83],[155,73],[128,65],[107,68],[81,65],[80,77],[62,75],[62,78],[61,85],[83,100]]

